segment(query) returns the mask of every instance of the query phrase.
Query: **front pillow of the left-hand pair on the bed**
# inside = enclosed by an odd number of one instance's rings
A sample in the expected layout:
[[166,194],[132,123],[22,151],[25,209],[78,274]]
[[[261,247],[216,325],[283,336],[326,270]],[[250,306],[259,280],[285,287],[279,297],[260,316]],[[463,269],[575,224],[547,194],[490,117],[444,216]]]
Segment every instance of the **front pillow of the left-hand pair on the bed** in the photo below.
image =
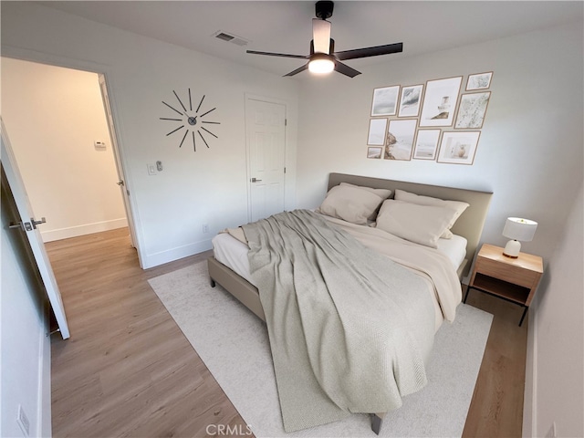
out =
[[357,186],[336,185],[332,187],[317,213],[337,217],[352,224],[367,224],[367,219],[383,202],[377,193]]

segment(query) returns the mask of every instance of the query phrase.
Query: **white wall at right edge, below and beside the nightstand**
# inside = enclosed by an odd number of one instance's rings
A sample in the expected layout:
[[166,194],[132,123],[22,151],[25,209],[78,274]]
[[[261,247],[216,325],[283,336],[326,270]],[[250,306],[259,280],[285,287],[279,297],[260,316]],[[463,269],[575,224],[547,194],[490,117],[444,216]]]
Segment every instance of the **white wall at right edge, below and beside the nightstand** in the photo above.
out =
[[[573,192],[568,214],[535,303],[535,338],[531,418],[533,436],[584,436],[584,193]],[[531,316],[530,316],[531,318]],[[528,394],[530,395],[530,394]]]

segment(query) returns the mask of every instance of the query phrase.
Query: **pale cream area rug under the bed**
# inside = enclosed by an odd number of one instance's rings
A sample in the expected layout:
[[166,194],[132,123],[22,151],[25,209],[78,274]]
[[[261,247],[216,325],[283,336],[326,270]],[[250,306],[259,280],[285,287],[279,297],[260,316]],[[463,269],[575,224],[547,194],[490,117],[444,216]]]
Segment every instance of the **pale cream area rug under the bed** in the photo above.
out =
[[[149,283],[255,436],[376,436],[366,414],[284,432],[266,324],[222,287],[211,287],[206,262]],[[380,436],[462,435],[492,319],[477,308],[458,307],[454,323],[436,334],[428,385],[385,416]]]

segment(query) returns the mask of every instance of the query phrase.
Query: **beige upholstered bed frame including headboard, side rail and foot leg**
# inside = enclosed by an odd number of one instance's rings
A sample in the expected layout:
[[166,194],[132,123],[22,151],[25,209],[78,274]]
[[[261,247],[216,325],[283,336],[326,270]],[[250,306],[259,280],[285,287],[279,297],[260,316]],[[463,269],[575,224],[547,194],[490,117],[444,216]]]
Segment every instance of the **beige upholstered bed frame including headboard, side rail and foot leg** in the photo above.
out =
[[[485,218],[493,193],[420,183],[405,183],[402,181],[383,180],[381,178],[370,178],[367,176],[348,175],[344,173],[330,173],[328,176],[328,190],[330,190],[331,187],[339,185],[339,183],[351,183],[373,187],[375,189],[391,189],[392,193],[394,193],[396,189],[401,189],[406,192],[433,196],[434,198],[469,203],[470,206],[458,218],[452,228],[452,232],[455,235],[462,235],[468,242],[466,245],[466,258],[458,269],[458,276],[459,278],[463,278],[468,274],[474,253],[476,252],[481,234],[483,233],[483,226],[485,225]],[[246,308],[249,308],[254,312],[257,317],[266,321],[264,308],[262,308],[259,293],[254,285],[245,280],[245,278],[235,274],[235,272],[227,266],[218,262],[213,256],[207,259],[207,265],[209,267],[209,276],[211,278],[212,287],[215,286],[215,283],[218,283],[241,301]],[[379,433],[384,413],[372,415],[371,429],[373,432]]]

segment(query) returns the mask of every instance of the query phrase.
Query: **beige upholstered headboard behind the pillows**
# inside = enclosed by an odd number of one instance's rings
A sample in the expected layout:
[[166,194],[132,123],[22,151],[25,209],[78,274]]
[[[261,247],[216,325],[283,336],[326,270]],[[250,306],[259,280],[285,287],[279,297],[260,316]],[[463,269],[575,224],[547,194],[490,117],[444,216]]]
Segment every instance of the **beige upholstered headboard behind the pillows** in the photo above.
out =
[[[391,189],[391,196],[395,193],[395,189],[400,189],[405,192],[422,194],[424,196],[433,196],[434,198],[469,203],[470,206],[458,218],[452,228],[452,232],[455,235],[462,235],[466,238],[468,242],[466,245],[466,257],[472,262],[474,252],[476,251],[476,247],[481,239],[481,234],[483,233],[483,226],[485,225],[485,218],[493,193],[441,187],[438,185],[405,183],[403,181],[383,180],[381,178],[348,175],[345,173],[330,173],[330,175],[328,175],[328,190],[335,185],[339,185],[339,183],[364,185],[366,187],[373,187],[374,189]],[[466,266],[464,266],[464,271],[461,273],[462,276],[468,274],[470,266],[471,263],[467,263]]]

